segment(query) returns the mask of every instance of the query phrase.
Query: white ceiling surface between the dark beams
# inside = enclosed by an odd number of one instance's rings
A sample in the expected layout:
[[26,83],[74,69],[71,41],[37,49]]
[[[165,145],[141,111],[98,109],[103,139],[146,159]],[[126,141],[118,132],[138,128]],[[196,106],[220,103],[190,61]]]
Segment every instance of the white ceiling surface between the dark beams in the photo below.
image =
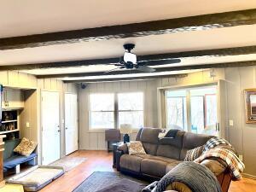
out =
[[[0,38],[112,26],[148,20],[163,20],[242,9],[256,9],[256,1],[0,0]],[[251,46],[256,45],[256,25],[233,26],[194,32],[177,32],[139,38],[0,50],[0,66],[118,57],[123,55],[124,49],[122,45],[125,43],[136,44],[134,53],[137,55]],[[182,62],[176,66],[251,60],[256,60],[256,55],[186,58],[182,59]],[[112,68],[113,66],[99,65],[22,72],[32,74],[86,73],[102,72]]]

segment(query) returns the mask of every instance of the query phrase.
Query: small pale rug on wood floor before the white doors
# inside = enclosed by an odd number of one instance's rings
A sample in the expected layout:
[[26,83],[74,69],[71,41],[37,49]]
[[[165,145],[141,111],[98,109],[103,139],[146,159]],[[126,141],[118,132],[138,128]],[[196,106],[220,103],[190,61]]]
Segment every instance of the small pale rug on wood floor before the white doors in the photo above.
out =
[[63,157],[60,160],[56,160],[51,166],[62,166],[65,172],[69,172],[74,167],[79,166],[81,163],[84,162],[86,158],[84,157]]

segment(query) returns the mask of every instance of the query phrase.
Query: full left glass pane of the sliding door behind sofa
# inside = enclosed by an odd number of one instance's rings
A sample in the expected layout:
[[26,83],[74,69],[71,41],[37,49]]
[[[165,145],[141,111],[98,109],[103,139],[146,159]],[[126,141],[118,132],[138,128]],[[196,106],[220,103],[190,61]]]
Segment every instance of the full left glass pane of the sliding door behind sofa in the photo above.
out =
[[166,127],[187,130],[185,90],[166,91]]

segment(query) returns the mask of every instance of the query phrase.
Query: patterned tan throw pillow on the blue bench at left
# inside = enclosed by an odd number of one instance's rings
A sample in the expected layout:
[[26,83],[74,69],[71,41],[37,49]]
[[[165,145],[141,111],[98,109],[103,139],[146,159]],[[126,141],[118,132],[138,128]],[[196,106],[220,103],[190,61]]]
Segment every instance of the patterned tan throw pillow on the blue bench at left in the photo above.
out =
[[20,144],[14,149],[14,152],[29,156],[37,147],[38,143],[32,142],[29,139],[23,137]]

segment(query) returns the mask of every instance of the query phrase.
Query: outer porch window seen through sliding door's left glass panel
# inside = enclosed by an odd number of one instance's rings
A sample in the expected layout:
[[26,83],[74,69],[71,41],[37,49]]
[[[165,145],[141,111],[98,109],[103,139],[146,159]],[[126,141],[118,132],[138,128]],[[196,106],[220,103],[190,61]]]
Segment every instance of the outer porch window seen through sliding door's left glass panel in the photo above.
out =
[[166,99],[166,126],[177,125],[186,130],[186,98],[170,97]]

